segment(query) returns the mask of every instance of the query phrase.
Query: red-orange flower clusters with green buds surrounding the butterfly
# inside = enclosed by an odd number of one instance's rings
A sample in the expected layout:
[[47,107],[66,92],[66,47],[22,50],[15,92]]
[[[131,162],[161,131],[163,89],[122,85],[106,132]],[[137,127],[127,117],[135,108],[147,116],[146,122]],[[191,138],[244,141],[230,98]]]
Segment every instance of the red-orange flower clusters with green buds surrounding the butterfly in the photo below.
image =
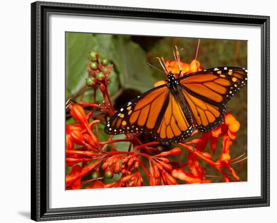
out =
[[[178,54],[177,59],[179,60]],[[182,69],[183,75],[202,69],[197,60],[191,61],[190,64],[179,64],[181,67],[176,61],[166,62],[166,66],[172,69],[173,73],[179,73]],[[240,159],[242,156],[239,156],[231,159],[230,147],[240,124],[228,113],[217,129],[202,133],[197,139],[181,142],[178,147],[169,151],[161,151],[160,142],[157,141],[141,142],[138,138],[141,134],[125,134],[124,139],[117,140],[110,136],[107,141],[101,141],[98,125],[100,122],[106,123],[107,117],[115,112],[107,90],[108,75],[112,67],[105,58],[99,61],[98,53],[91,52],[86,86],[93,87],[94,94],[99,87],[103,103],[97,104],[94,95],[94,103],[81,99],[79,103],[74,104],[69,100],[66,104],[76,120],[75,124],[66,125],[66,167],[71,168],[66,175],[66,189],[211,183],[212,180],[206,179],[212,177],[207,175],[209,168],[203,168],[202,162],[218,170],[221,176],[217,177],[223,177],[226,182],[239,180],[231,165],[246,158]],[[199,134],[197,130],[191,137],[197,136],[196,134]],[[214,160],[213,154],[218,148],[220,138],[223,138],[221,156]],[[119,148],[118,142],[126,142],[129,146]],[[213,154],[204,152],[209,142]],[[171,158],[180,156],[182,150],[188,150],[187,157],[182,158],[187,162],[171,162]]]

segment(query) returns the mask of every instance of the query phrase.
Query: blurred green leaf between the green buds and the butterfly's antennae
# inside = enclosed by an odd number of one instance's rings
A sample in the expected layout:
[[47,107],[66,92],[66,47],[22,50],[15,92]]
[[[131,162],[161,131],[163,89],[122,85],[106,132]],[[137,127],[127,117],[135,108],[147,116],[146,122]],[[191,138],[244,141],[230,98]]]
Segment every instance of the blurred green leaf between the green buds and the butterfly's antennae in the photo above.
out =
[[153,88],[155,79],[144,50],[123,36],[114,37],[112,43],[110,60],[118,70],[121,86],[141,92]]

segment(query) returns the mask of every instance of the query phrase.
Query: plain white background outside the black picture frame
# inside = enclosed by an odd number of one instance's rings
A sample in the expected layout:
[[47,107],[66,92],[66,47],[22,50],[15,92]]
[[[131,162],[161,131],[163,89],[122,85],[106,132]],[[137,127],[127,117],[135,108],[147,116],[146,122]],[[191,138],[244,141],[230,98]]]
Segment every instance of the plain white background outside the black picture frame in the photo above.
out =
[[[77,1],[62,1],[77,3]],[[254,3],[257,2],[257,3]],[[0,61],[1,61],[1,221],[27,222],[30,221],[30,3],[31,1],[11,1],[2,3]],[[137,215],[123,217],[109,217],[97,219],[79,219],[62,222],[151,222],[151,221],[264,221],[273,222],[270,216],[276,215],[277,197],[274,192],[275,179],[273,175],[277,165],[273,142],[273,126],[276,119],[273,113],[276,103],[276,80],[273,75],[274,55],[277,51],[273,42],[276,30],[276,7],[274,1],[79,1],[78,3],[114,5],[142,8],[164,8],[176,10],[238,13],[252,15],[267,15],[271,18],[271,206],[262,208],[244,208],[232,210],[215,210],[186,213],[170,213],[155,215]],[[275,26],[273,28],[273,26]],[[253,111],[254,112],[254,111]],[[4,153],[3,153],[4,152]]]

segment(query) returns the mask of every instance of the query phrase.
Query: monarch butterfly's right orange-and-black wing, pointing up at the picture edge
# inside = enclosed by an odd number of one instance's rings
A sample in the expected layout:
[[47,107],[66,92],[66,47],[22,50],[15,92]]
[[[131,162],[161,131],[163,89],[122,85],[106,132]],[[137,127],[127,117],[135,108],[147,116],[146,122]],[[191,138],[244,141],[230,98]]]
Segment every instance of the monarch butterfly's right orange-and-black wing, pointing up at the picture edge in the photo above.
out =
[[200,132],[210,132],[224,120],[226,103],[247,83],[247,69],[218,67],[179,79],[193,122]]

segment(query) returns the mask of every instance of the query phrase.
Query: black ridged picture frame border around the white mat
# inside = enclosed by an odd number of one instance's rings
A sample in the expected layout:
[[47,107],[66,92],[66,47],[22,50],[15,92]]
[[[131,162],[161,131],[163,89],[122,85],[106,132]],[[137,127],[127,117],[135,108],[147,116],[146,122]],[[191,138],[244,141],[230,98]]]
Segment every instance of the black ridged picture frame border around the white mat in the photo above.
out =
[[[50,14],[260,27],[261,196],[73,208],[49,208],[49,83],[47,38],[48,16]],[[260,206],[269,206],[269,17],[51,2],[35,2],[31,4],[31,219],[42,221]]]

